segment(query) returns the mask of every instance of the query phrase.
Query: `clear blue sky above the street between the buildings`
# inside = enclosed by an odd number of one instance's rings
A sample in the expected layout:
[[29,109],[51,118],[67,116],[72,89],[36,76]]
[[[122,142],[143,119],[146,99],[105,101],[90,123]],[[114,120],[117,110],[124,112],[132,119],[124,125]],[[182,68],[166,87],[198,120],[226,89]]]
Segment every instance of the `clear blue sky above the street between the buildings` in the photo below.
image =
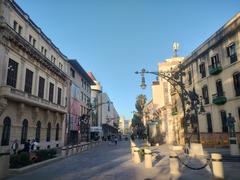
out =
[[131,118],[136,70],[156,71],[180,43],[187,56],[240,10],[240,0],[16,0],[68,58],[92,71],[120,115]]

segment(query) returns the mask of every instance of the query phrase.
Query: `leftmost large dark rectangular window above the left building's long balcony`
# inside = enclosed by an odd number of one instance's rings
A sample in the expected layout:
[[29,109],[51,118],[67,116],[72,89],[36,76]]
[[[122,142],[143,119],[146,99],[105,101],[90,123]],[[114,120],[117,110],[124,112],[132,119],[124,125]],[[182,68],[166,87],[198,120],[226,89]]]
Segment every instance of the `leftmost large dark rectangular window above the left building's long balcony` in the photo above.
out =
[[17,84],[18,63],[12,59],[8,62],[7,85],[16,88]]

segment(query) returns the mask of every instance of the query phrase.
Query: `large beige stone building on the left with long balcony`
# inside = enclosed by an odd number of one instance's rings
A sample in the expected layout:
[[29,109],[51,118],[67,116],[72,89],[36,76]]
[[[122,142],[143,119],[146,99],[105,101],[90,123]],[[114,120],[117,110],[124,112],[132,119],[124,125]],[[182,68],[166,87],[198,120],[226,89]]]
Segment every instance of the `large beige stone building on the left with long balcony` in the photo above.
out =
[[0,151],[63,144],[66,56],[14,2],[0,1]]

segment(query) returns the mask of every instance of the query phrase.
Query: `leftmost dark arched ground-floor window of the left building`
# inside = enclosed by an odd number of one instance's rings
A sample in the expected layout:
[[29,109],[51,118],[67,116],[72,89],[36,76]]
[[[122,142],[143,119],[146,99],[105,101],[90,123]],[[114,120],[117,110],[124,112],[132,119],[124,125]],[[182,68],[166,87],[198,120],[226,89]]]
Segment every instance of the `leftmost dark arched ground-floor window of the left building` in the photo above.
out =
[[6,117],[3,121],[1,146],[9,145],[10,130],[11,130],[11,119],[9,117]]

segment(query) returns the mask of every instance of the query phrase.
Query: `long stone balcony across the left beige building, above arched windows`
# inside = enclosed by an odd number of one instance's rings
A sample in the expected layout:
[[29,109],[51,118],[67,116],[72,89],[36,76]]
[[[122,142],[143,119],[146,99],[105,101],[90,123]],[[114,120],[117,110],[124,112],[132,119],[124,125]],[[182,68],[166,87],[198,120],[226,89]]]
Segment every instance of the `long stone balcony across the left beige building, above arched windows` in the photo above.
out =
[[0,86],[0,97],[1,96],[16,102],[28,104],[30,106],[40,107],[42,109],[59,113],[67,113],[67,108],[62,105],[52,103],[46,99],[42,99],[19,89],[12,88],[11,86]]

